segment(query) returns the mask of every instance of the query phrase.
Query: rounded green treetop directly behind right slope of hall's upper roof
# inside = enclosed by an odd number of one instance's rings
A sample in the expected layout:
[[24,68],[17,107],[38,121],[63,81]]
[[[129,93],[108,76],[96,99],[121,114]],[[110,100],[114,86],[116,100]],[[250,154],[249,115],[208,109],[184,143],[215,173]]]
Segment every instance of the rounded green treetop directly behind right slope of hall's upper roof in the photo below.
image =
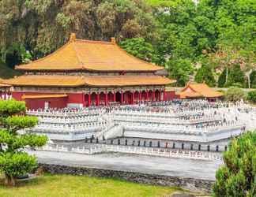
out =
[[125,39],[120,43],[120,46],[122,46],[127,53],[132,54],[137,58],[155,63],[159,62],[159,58],[157,57],[152,44],[145,42],[145,39],[143,38]]

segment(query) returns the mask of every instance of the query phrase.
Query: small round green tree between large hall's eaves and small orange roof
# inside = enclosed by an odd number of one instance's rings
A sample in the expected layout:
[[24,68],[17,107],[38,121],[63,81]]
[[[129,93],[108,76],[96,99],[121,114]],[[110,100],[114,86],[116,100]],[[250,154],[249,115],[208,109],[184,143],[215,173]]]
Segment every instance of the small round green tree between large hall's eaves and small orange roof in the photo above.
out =
[[167,65],[169,77],[177,80],[179,87],[185,86],[194,72],[194,67],[188,59],[170,60]]

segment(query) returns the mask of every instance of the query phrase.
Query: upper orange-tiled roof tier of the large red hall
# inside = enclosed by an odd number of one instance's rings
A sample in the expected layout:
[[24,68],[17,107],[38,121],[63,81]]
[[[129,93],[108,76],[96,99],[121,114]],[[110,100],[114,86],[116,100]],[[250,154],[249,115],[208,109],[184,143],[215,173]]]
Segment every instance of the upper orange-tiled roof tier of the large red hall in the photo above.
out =
[[70,41],[39,60],[18,65],[22,70],[94,70],[94,71],[157,71],[163,67],[152,65],[127,54],[115,42],[70,38]]

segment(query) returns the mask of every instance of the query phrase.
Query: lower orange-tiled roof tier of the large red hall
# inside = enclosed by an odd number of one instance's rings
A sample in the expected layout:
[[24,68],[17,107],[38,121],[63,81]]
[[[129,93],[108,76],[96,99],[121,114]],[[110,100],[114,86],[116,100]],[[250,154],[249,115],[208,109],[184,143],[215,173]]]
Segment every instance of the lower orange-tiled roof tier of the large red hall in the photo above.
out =
[[175,83],[164,76],[61,76],[61,75],[24,75],[5,80],[13,86],[133,86],[133,85],[164,85]]

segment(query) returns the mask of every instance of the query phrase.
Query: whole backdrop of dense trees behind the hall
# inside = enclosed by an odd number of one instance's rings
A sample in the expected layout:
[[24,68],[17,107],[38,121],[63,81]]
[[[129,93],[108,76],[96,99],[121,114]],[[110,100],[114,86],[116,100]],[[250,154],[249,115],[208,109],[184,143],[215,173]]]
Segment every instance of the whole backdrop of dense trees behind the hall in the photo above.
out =
[[211,86],[256,87],[254,10],[254,0],[2,0],[0,53],[13,67],[29,54],[35,59],[56,50],[70,32],[83,39],[115,36],[130,54],[165,66],[179,86],[196,75]]

